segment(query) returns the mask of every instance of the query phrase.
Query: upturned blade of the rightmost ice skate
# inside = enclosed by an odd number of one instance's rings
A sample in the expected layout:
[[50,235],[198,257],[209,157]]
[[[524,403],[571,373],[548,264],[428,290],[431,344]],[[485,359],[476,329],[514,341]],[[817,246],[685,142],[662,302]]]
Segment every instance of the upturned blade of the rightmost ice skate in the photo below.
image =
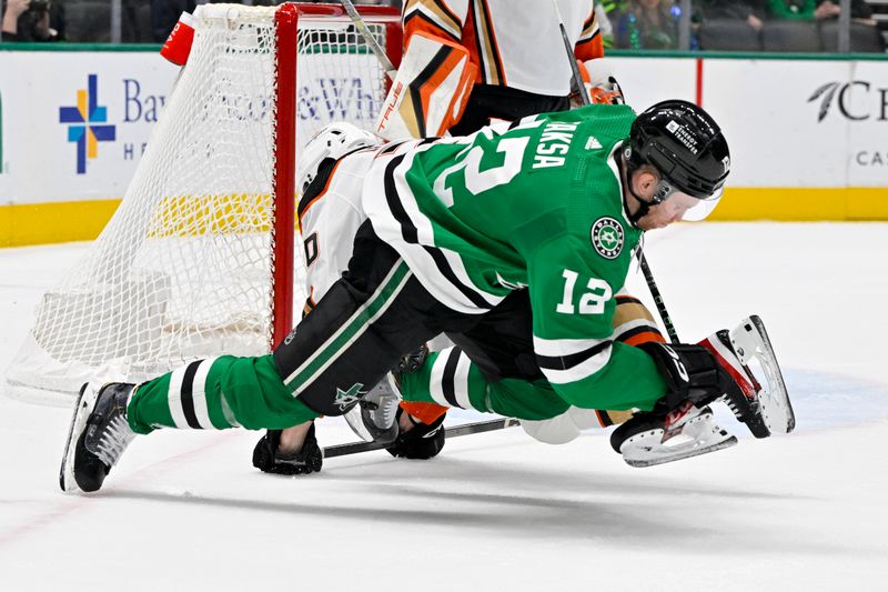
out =
[[757,314],[749,315],[730,332],[730,342],[740,361],[761,384],[758,399],[765,424],[771,433],[791,432],[796,428],[796,415],[765,323]]

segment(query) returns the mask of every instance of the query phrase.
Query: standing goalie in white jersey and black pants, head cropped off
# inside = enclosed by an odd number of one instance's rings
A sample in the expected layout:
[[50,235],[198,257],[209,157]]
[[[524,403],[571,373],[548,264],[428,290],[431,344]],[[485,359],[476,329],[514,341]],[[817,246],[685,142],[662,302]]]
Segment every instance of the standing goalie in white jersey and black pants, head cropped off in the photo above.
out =
[[464,47],[477,69],[475,84],[454,136],[492,119],[514,121],[569,108],[572,70],[559,31],[559,14],[574,56],[596,72],[594,102],[618,102],[622,93],[603,64],[604,44],[593,0],[407,0],[405,43],[416,32]]

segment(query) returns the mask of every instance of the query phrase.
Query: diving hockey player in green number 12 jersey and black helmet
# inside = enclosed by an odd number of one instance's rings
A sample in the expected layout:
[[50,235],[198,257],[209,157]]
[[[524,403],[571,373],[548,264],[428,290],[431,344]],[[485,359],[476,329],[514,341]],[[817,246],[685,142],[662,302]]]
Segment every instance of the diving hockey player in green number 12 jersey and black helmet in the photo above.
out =
[[727,397],[741,421],[760,420],[730,343],[714,354],[610,335],[643,232],[706,213],[729,165],[716,123],[683,101],[637,119],[591,106],[321,163],[300,215],[337,175],[360,180],[353,208],[366,220],[343,277],[272,354],[195,360],[140,385],[85,384],[61,486],[98,490],[135,434],[159,428],[283,429],[346,413],[441,332],[458,352],[398,373],[405,399],[527,420],[637,409],[645,430],[695,427],[695,453],[720,448],[708,403]]

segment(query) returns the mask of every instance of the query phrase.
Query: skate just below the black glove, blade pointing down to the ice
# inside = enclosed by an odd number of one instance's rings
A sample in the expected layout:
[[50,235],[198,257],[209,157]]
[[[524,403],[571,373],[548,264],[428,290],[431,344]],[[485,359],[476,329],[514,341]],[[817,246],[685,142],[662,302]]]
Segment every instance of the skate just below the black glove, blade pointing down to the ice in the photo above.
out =
[[685,401],[672,411],[636,413],[610,434],[610,446],[632,466],[653,466],[715,452],[737,443],[708,407]]

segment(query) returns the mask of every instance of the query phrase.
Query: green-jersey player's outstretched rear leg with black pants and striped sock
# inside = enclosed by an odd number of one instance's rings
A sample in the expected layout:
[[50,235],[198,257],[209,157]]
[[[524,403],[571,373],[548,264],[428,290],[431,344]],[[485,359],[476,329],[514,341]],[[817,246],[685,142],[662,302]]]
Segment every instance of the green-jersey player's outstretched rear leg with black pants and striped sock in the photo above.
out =
[[[427,319],[447,314],[453,313],[428,294],[397,253],[365,223],[355,239],[349,271],[273,354],[199,360],[135,389],[128,385],[125,395],[113,395],[115,417],[125,419],[114,425],[125,425],[131,439],[130,434],[161,427],[282,429],[321,414],[341,415],[366,394],[367,385],[379,382],[397,363],[402,352],[416,349],[438,332],[426,324]],[[108,407],[103,401],[111,393],[110,389],[97,390],[84,407],[78,405],[72,425],[77,424],[79,432],[72,430],[71,434],[74,443],[81,435],[89,438],[88,427],[104,421],[94,412]],[[97,456],[105,466],[104,474],[125,448],[125,443],[118,446],[113,458],[99,454],[102,442],[110,441],[103,433],[109,427],[91,430],[95,445],[81,450]],[[87,484],[93,485],[94,480]],[[83,489],[73,474],[63,479],[62,486]]]

